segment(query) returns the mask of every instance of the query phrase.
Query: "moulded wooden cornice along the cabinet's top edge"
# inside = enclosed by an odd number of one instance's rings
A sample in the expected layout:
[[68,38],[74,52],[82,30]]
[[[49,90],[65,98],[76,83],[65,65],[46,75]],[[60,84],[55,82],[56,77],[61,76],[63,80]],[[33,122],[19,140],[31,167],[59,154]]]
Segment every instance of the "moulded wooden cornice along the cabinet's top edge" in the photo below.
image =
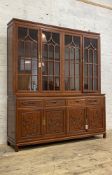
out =
[[100,33],[96,33],[96,32],[90,32],[90,30],[88,31],[82,31],[82,30],[78,30],[78,29],[71,29],[71,28],[67,28],[67,27],[60,27],[60,26],[55,26],[55,25],[49,25],[49,24],[43,24],[43,23],[38,23],[38,22],[33,22],[33,21],[29,21],[29,20],[23,20],[23,19],[17,19],[17,18],[13,18],[11,21],[9,21],[9,23],[7,24],[8,27],[10,27],[10,25],[13,24],[23,24],[23,25],[31,25],[31,26],[40,26],[40,27],[48,27],[48,28],[57,28],[58,30],[70,30],[71,32],[75,31],[77,33],[82,33],[82,34],[92,34],[92,35],[97,35],[99,36]]

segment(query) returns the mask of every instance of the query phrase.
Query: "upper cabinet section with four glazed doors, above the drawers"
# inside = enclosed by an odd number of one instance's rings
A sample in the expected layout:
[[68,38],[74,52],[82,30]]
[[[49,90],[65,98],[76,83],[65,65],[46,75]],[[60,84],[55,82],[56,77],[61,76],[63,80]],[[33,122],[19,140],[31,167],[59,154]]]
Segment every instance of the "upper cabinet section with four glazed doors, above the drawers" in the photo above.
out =
[[16,19],[8,31],[14,93],[100,93],[99,34]]

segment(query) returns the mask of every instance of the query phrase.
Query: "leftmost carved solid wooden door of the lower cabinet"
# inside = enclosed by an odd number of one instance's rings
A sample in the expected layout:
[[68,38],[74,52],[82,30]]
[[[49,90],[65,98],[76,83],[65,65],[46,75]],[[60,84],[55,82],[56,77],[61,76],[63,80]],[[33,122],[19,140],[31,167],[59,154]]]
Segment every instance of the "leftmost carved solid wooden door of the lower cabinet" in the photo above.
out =
[[18,110],[18,140],[30,140],[42,137],[42,110]]

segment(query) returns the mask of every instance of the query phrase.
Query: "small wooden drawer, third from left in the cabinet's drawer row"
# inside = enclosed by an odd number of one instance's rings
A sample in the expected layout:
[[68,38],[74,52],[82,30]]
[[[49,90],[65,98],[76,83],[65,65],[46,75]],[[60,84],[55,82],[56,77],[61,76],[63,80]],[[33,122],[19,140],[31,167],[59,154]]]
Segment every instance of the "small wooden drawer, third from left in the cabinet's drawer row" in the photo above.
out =
[[68,100],[68,105],[85,105],[85,99],[76,98]]

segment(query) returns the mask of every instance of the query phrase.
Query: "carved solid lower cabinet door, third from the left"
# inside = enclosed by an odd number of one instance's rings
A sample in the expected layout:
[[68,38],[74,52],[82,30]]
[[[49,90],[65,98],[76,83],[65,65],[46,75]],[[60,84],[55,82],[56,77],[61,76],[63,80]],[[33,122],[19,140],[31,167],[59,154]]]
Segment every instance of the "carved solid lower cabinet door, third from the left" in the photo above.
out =
[[68,133],[82,134],[85,132],[85,108],[72,106],[68,108]]

